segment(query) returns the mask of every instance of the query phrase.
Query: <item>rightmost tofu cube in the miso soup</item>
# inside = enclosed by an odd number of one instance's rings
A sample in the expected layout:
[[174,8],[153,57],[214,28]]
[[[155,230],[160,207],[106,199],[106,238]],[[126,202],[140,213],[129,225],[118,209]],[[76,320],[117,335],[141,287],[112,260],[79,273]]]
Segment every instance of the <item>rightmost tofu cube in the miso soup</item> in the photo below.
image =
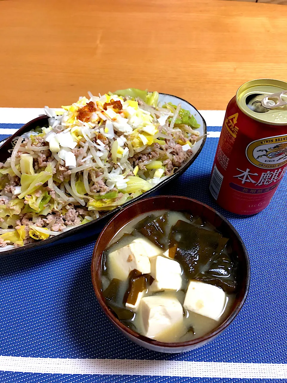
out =
[[218,321],[225,304],[226,295],[221,288],[196,280],[189,282],[183,303],[187,310]]

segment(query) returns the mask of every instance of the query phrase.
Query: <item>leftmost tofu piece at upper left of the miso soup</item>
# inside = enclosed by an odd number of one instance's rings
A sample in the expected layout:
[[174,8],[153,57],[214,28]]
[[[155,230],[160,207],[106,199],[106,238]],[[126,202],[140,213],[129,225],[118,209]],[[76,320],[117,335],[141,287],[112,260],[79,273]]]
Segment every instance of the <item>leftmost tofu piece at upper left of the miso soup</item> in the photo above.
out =
[[112,279],[125,281],[134,269],[142,274],[150,273],[150,260],[144,252],[140,251],[141,246],[131,245],[121,247],[109,254],[108,262]]

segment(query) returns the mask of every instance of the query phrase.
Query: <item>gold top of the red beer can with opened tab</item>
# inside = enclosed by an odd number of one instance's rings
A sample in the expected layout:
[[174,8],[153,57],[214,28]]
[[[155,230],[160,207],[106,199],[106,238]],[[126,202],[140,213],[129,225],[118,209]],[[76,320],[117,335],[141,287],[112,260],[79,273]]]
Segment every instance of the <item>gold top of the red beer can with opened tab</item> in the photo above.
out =
[[236,103],[243,113],[256,121],[287,126],[287,82],[285,81],[272,79],[248,81],[238,89]]

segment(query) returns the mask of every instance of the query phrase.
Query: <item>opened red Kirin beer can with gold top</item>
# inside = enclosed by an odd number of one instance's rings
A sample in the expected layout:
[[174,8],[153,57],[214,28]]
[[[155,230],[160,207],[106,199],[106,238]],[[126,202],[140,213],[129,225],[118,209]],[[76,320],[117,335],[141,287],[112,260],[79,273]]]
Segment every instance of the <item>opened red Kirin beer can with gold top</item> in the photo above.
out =
[[287,83],[243,84],[228,103],[209,185],[224,209],[243,215],[269,204],[287,171]]

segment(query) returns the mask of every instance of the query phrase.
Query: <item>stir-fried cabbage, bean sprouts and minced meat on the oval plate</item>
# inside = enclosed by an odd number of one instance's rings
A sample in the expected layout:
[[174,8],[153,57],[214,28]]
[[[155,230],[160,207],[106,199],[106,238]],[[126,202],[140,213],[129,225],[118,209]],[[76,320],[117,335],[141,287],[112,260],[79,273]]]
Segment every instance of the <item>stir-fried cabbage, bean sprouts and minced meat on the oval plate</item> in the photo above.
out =
[[49,126],[13,142],[0,163],[0,247],[85,224],[169,177],[201,137],[181,105],[129,88],[45,107]]

